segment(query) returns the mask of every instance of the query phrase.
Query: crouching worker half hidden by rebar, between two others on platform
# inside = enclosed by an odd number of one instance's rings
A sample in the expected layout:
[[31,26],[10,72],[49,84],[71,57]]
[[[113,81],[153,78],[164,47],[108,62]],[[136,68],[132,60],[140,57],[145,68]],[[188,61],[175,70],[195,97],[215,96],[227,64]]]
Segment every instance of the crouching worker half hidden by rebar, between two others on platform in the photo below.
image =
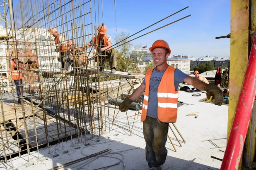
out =
[[68,48],[70,49],[70,56],[75,56],[75,61],[71,58],[72,67],[82,67],[87,64],[87,57],[85,54],[84,47],[77,47],[75,42],[72,40],[68,41]]

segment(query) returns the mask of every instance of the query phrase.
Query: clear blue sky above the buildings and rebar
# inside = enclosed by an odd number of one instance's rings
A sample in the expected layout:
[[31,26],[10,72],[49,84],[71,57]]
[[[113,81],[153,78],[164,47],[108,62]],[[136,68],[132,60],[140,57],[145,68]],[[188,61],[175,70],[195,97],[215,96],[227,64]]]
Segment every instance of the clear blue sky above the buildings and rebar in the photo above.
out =
[[[138,38],[133,41],[133,44],[150,47],[155,40],[163,39],[169,43],[172,55],[184,54],[189,55],[189,57],[230,56],[230,39],[215,39],[217,36],[230,33],[230,0],[116,0],[116,19],[114,0],[99,0],[100,23],[102,23],[102,1],[104,22],[108,28],[107,34],[111,35],[112,44],[115,43],[114,37],[121,31],[132,35],[189,6],[184,11],[134,35],[130,39],[189,14],[191,17]],[[17,2],[18,0],[14,0],[14,8]],[[92,0],[93,17],[94,2],[95,0]],[[96,8],[98,9],[98,7]]]

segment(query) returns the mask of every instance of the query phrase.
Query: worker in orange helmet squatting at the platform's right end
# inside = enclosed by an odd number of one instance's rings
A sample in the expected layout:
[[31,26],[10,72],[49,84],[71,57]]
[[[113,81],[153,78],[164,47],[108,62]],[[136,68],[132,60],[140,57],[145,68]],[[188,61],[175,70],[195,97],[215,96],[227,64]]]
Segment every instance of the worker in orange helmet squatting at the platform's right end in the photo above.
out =
[[106,35],[107,28],[106,25],[101,24],[99,25],[98,29],[98,36],[97,38],[94,37],[93,40],[91,40],[87,45],[85,45],[85,49],[88,47],[94,45],[94,49],[97,49],[97,52],[101,52],[101,56],[99,56],[99,66],[100,71],[104,71],[104,62],[108,61],[109,66],[111,68],[111,73],[116,72],[116,58],[117,58],[117,50],[111,49],[111,37],[109,35]]

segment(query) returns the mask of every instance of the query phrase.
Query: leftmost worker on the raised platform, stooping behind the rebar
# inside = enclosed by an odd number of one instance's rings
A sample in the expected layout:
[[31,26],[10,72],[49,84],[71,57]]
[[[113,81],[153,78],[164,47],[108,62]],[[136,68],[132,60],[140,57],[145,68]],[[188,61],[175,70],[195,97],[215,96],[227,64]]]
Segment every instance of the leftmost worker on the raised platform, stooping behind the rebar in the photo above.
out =
[[58,58],[58,61],[61,62],[61,68],[68,68],[70,66],[70,50],[68,49],[65,37],[61,34],[58,34],[56,28],[52,28],[50,33],[53,35],[54,42],[57,46],[55,52],[60,52],[60,58]]

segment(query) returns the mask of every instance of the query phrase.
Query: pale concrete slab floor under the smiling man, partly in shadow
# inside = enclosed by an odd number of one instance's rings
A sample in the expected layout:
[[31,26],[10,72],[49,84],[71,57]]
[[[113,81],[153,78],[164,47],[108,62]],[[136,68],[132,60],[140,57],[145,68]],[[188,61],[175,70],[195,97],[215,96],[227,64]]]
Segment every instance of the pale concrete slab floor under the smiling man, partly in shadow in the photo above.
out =
[[[197,92],[198,93],[198,92]],[[173,146],[167,140],[168,155],[166,162],[164,163],[163,170],[218,170],[220,169],[221,161],[211,158],[215,156],[217,158],[223,158],[224,153],[219,149],[211,149],[217,146],[226,146],[226,139],[213,140],[214,144],[209,141],[202,142],[208,139],[219,139],[227,137],[227,113],[228,106],[215,106],[214,104],[199,102],[200,99],[206,97],[206,94],[201,93],[200,97],[193,97],[193,93],[184,91],[179,92],[179,101],[182,101],[189,105],[183,105],[178,108],[178,119],[175,125],[183,135],[186,143],[181,142],[182,147],[175,139],[171,130],[169,135],[174,142],[176,152]],[[109,108],[110,122],[112,122],[114,109]],[[188,113],[197,112],[198,118],[194,116],[186,116]],[[138,113],[138,112],[137,112]],[[125,128],[128,127],[127,116],[134,115],[135,111],[128,110],[126,113],[118,113],[115,120],[115,124]],[[134,117],[129,119],[130,125],[133,124]],[[111,126],[110,126],[111,127]],[[15,157],[12,159],[15,168],[19,169],[37,169],[45,170],[75,161],[79,158],[89,156],[93,153],[105,149],[111,149],[111,153],[105,156],[98,157],[97,159],[91,158],[79,163],[73,163],[65,167],[65,169],[97,169],[104,166],[118,165],[108,168],[109,170],[147,170],[147,162],[145,160],[145,140],[142,133],[142,122],[140,116],[135,117],[132,135],[130,132],[116,125],[110,128],[107,125],[106,131],[103,136],[83,135],[80,137],[80,143],[78,139],[72,139],[50,146],[50,148],[43,148],[32,152],[29,155],[29,162],[34,163],[31,167],[27,168],[28,156],[23,155],[22,158]],[[118,134],[118,135],[116,135]],[[176,133],[178,138],[178,133]],[[86,140],[87,139],[87,140]],[[100,140],[100,142],[96,142]],[[85,144],[90,145],[85,146]],[[75,149],[80,146],[80,149]],[[220,148],[225,151],[225,148]],[[68,151],[68,153],[63,153]],[[59,156],[53,158],[53,155]],[[46,157],[47,160],[41,163],[38,161],[40,158]],[[94,159],[94,160],[92,160]],[[7,165],[7,164],[6,164]],[[7,165],[9,166],[9,165]],[[0,165],[0,168],[3,165]]]

